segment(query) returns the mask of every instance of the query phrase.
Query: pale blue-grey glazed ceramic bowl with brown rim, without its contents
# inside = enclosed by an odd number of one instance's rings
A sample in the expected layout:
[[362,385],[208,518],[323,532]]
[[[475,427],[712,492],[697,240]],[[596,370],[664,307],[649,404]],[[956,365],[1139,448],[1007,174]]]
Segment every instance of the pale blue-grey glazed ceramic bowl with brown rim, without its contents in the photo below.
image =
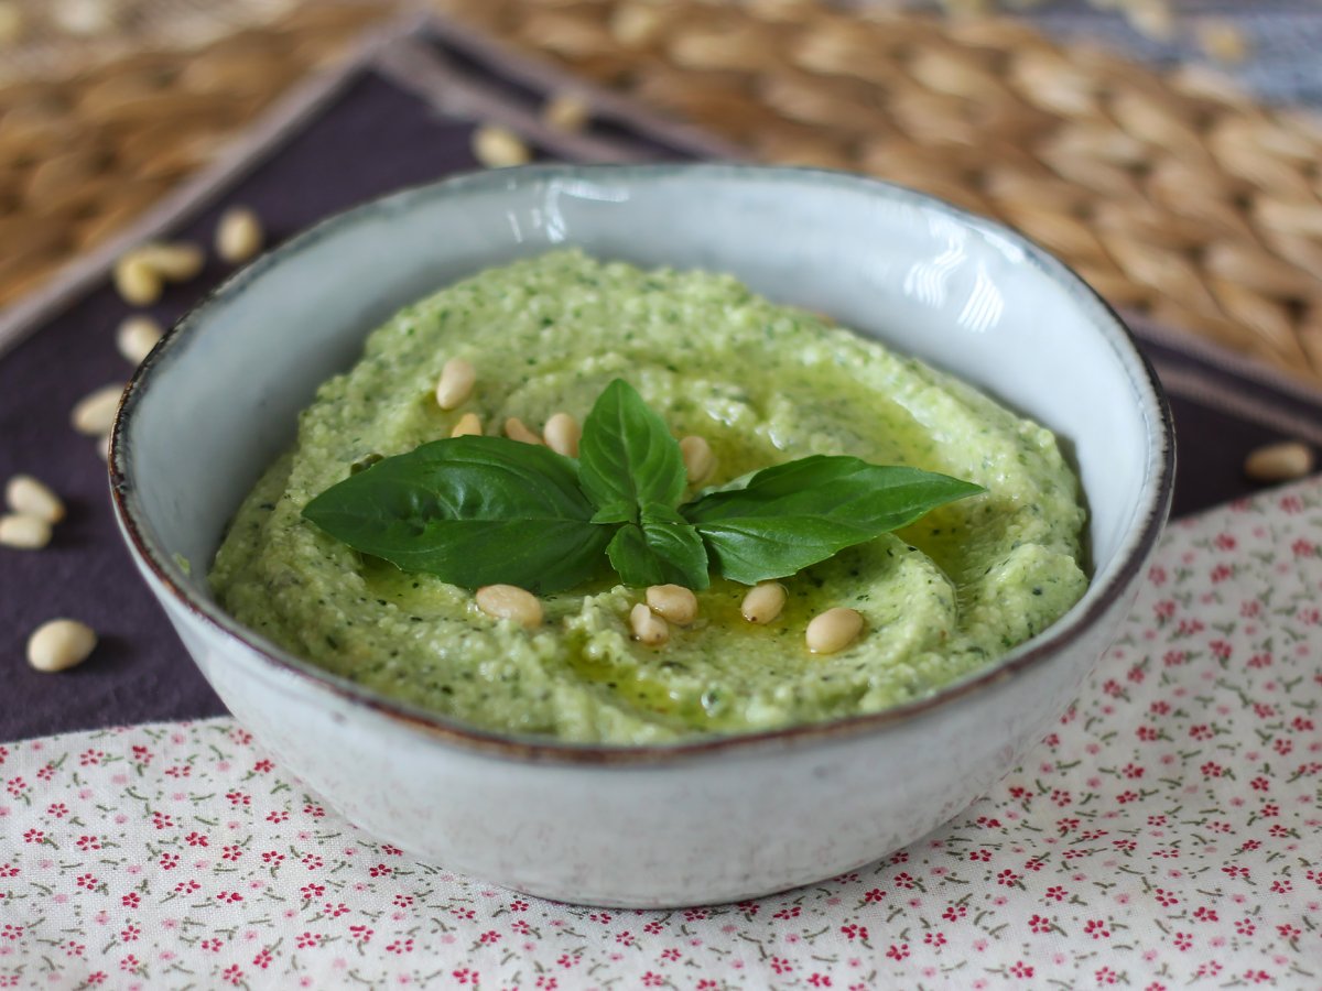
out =
[[[1087,492],[1087,595],[931,698],[664,748],[479,732],[325,674],[226,616],[205,572],[317,383],[348,367],[398,307],[566,244],[732,272],[1050,425]],[[1047,731],[1112,640],[1165,521],[1171,474],[1151,369],[1116,314],[1040,248],[882,182],[732,165],[492,170],[333,217],[169,333],[128,388],[111,451],[137,567],[225,704],[290,770],[418,858],[533,895],[624,906],[806,884],[966,807]]]

